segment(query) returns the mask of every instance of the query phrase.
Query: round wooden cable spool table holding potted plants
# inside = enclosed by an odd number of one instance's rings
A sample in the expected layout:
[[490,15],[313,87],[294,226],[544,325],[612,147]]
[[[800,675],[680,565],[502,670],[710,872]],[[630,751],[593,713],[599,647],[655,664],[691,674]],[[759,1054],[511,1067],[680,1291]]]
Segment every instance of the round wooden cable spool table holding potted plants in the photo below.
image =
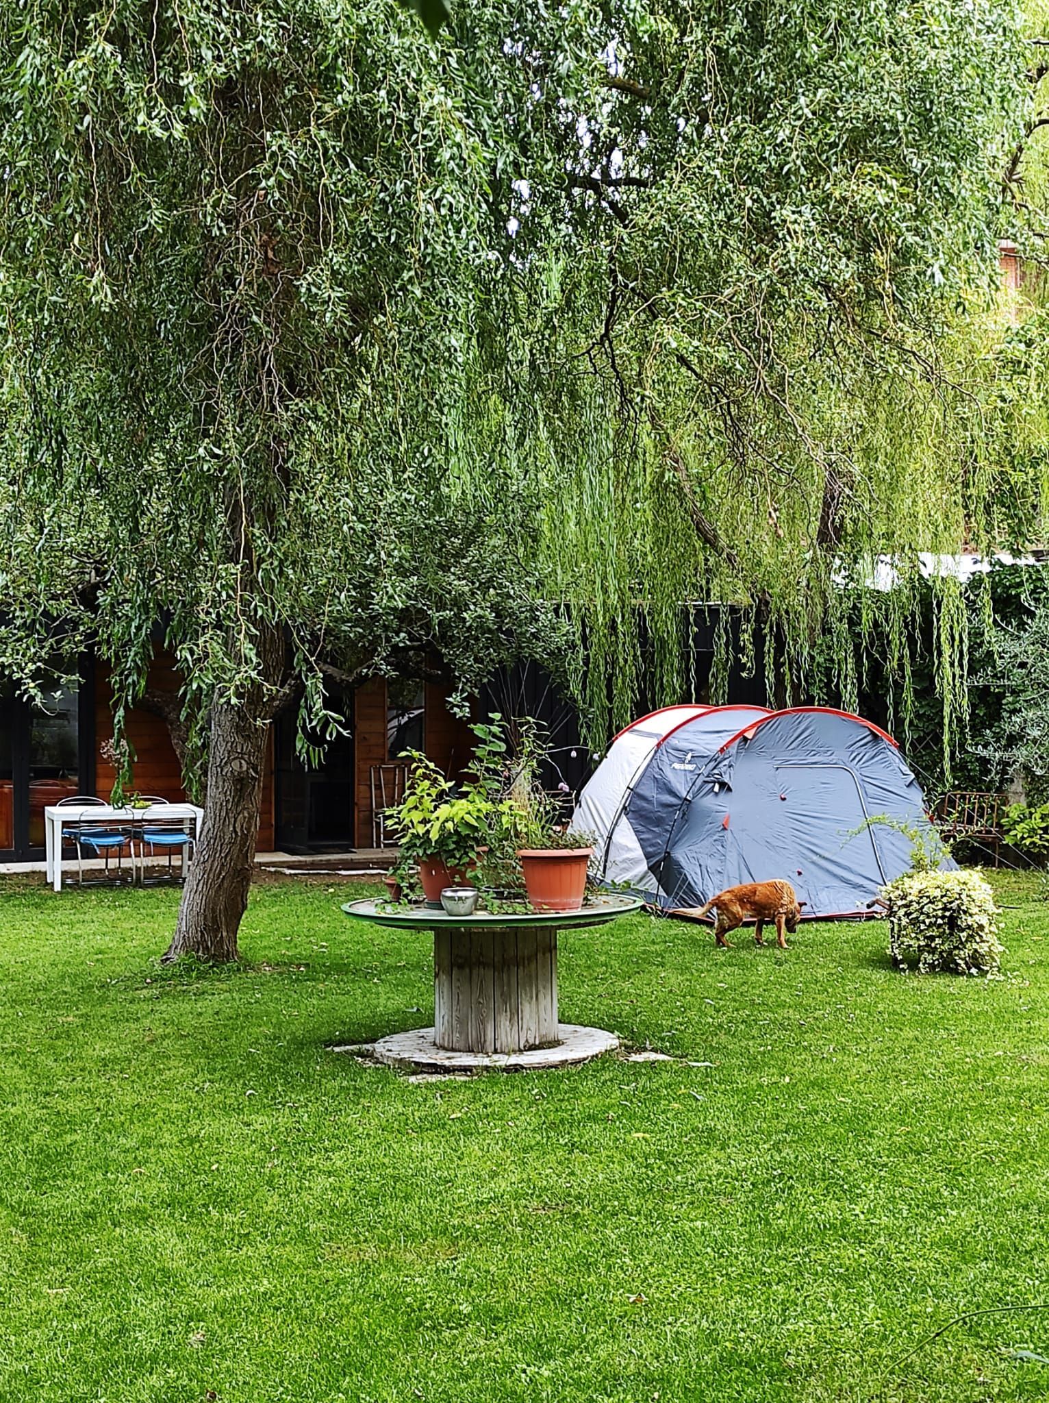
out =
[[352,920],[433,933],[433,1027],[380,1038],[374,1056],[393,1065],[471,1070],[561,1066],[618,1047],[603,1028],[561,1023],[557,1009],[558,930],[603,926],[641,909],[631,897],[600,895],[579,911],[522,916],[449,916],[414,908],[383,911],[351,901]]

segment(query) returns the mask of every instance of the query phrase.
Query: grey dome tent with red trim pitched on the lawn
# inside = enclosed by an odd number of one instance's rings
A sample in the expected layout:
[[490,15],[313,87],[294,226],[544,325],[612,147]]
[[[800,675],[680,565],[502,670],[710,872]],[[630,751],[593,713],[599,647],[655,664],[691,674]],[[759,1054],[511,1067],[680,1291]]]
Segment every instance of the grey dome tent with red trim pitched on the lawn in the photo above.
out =
[[[930,832],[921,788],[872,721],[829,707],[668,707],[616,737],[572,826],[599,875],[665,911],[790,881],[806,916],[862,916]],[[865,826],[864,826],[865,825]],[[942,866],[954,867],[944,857]]]

